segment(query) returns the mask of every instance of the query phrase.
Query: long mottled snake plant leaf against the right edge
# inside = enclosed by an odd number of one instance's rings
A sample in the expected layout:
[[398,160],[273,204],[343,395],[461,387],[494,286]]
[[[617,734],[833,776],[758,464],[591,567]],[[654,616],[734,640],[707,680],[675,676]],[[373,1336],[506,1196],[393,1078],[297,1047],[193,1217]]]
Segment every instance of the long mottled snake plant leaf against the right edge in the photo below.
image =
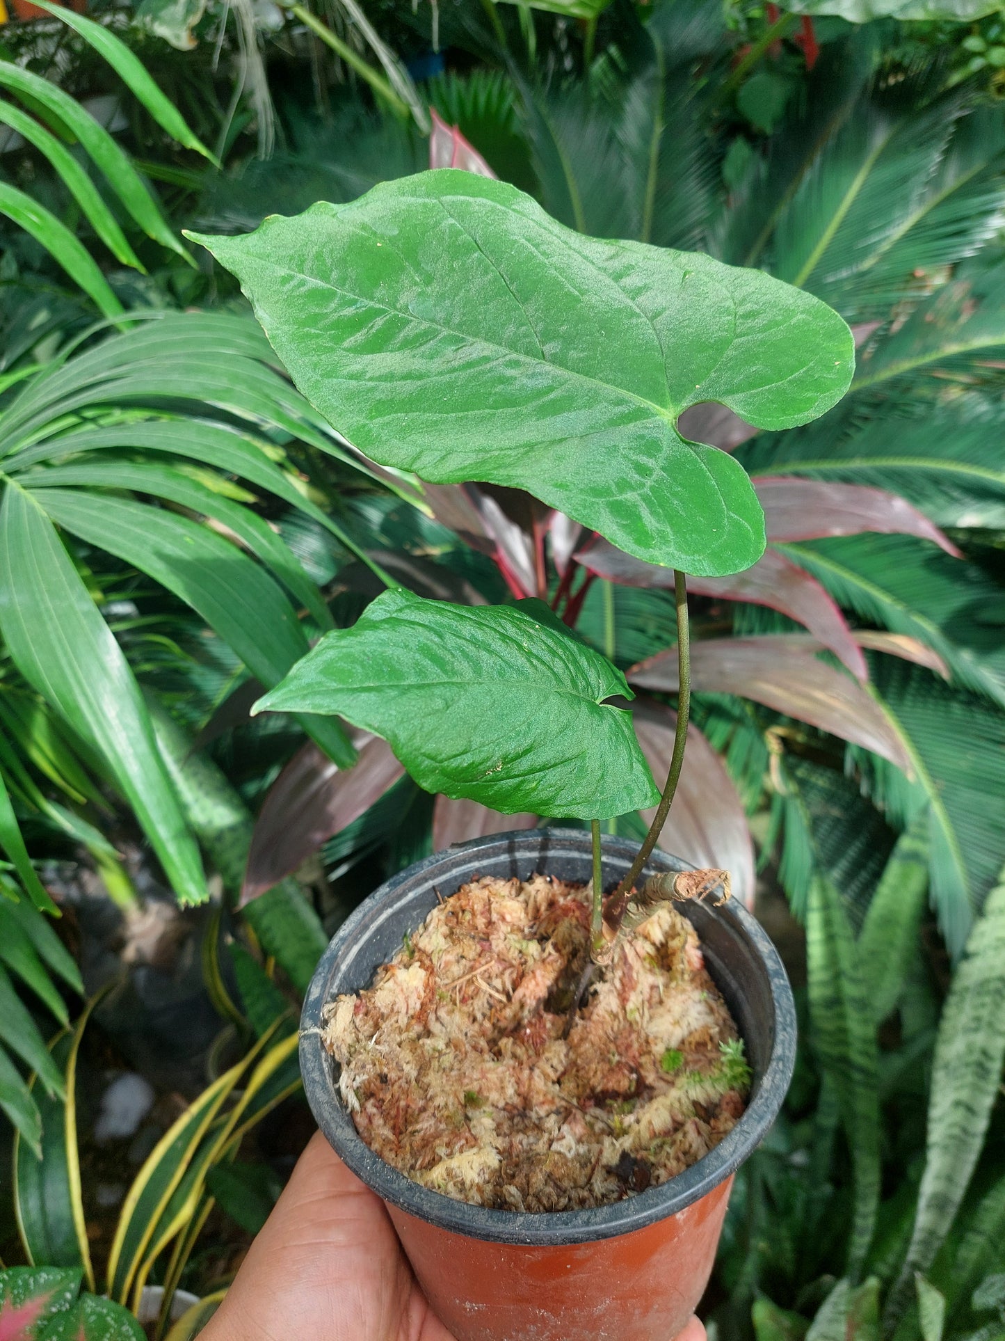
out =
[[942,1008],[929,1097],[929,1136],[907,1259],[890,1303],[910,1298],[955,1219],[990,1121],[1005,1061],[1005,873],[974,924]]

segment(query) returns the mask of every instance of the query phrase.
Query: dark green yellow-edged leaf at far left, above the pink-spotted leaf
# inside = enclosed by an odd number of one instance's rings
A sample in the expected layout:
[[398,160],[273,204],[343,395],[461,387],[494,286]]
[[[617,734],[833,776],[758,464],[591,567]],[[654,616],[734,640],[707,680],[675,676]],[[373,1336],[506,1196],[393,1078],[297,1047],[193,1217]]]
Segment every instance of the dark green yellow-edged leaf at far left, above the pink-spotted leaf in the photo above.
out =
[[91,1290],[94,1269],[76,1139],[76,1059],[94,1004],[90,1000],[74,1029],[50,1045],[54,1061],[66,1071],[66,1096],[38,1096],[40,1148],[31,1149],[19,1139],[13,1149],[15,1211],[25,1257],[38,1265],[79,1267]]

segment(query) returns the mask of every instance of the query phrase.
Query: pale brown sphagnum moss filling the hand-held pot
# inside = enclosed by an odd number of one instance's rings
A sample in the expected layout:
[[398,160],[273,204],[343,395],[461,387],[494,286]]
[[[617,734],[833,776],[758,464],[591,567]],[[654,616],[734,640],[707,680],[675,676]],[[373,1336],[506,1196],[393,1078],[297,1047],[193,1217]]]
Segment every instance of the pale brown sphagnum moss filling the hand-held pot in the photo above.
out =
[[417,1183],[509,1211],[603,1206],[674,1177],[736,1125],[742,1043],[670,904],[619,945],[563,1039],[587,900],[545,876],[477,880],[370,988],[326,1008],[360,1136]]

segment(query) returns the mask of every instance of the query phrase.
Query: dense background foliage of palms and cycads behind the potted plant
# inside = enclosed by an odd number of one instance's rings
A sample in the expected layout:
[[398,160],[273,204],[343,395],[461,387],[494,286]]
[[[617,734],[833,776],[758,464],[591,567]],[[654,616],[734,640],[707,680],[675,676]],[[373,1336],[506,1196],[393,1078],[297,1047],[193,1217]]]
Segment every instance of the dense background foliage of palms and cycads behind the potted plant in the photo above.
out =
[[666,768],[665,573],[528,496],[373,467],[180,240],[431,164],[764,267],[855,329],[813,425],[683,425],[754,476],[769,548],[689,583],[663,842],[732,868],[803,1012],[708,1322],[1005,1334],[1002,24],[978,0],[15,0],[1,1309],[56,1290],[95,1334],[194,1336],[311,1128],[292,1029],[327,936],[434,848],[563,818],[429,797],[328,720],[251,719],[311,638],[387,582],[543,597],[628,673]]

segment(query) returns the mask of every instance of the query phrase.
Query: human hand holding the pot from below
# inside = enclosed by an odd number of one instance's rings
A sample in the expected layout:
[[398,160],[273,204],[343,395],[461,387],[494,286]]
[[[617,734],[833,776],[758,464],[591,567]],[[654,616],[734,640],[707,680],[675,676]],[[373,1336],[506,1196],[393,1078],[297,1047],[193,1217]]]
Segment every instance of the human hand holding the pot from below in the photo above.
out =
[[[315,1133],[201,1341],[454,1341],[379,1198]],[[654,1338],[658,1341],[658,1338]],[[705,1341],[697,1318],[677,1341]]]

